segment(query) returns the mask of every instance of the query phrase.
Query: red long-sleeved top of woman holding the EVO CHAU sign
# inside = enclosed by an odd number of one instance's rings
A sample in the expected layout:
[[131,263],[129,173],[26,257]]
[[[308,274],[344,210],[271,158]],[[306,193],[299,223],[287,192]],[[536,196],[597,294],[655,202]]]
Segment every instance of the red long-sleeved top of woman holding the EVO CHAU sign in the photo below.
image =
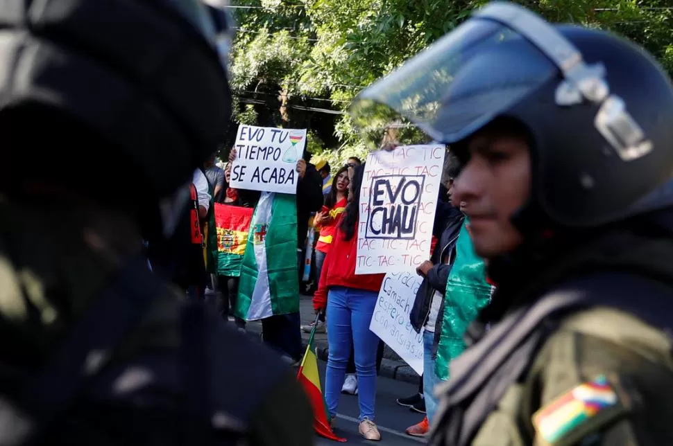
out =
[[330,287],[348,287],[379,292],[385,274],[355,275],[357,261],[357,224],[350,240],[343,240],[343,232],[337,226],[332,248],[325,257],[323,271],[318,282],[318,291],[313,296],[313,307],[321,310],[327,305],[327,290]]

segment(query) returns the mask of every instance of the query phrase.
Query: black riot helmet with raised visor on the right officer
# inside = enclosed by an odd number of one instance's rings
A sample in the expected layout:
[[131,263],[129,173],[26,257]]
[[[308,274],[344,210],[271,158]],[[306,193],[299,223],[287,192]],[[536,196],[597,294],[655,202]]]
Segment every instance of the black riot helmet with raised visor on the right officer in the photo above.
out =
[[476,12],[362,92],[352,113],[364,136],[402,115],[457,148],[498,118],[518,121],[533,160],[527,207],[557,225],[595,227],[672,201],[656,193],[673,172],[663,69],[620,37],[552,26],[512,3]]

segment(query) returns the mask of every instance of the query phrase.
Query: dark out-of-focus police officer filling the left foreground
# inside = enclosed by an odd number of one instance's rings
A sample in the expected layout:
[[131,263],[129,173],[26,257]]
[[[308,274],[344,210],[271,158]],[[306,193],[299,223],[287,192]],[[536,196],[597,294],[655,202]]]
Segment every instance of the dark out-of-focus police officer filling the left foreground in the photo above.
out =
[[199,0],[1,3],[0,444],[312,444],[280,359],[141,251],[228,124],[231,26]]

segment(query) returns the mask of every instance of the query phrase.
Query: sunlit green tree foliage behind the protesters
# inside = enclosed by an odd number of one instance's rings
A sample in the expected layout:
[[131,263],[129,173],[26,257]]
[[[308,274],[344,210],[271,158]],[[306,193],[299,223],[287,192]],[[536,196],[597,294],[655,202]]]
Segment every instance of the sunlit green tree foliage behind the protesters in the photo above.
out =
[[[346,113],[361,89],[458,26],[486,0],[239,0],[237,122],[308,128],[330,163],[365,153]],[[670,0],[518,0],[546,19],[612,30],[673,73]],[[637,80],[634,80],[637,82]]]

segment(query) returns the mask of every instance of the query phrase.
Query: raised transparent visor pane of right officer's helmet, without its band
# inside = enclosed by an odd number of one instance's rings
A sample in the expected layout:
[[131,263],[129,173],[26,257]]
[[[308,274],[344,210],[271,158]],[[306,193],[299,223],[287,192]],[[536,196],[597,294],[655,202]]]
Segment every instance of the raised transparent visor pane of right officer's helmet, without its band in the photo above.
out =
[[516,31],[472,18],[361,92],[350,111],[360,135],[372,145],[381,145],[391,126],[410,124],[451,144],[558,73]]

